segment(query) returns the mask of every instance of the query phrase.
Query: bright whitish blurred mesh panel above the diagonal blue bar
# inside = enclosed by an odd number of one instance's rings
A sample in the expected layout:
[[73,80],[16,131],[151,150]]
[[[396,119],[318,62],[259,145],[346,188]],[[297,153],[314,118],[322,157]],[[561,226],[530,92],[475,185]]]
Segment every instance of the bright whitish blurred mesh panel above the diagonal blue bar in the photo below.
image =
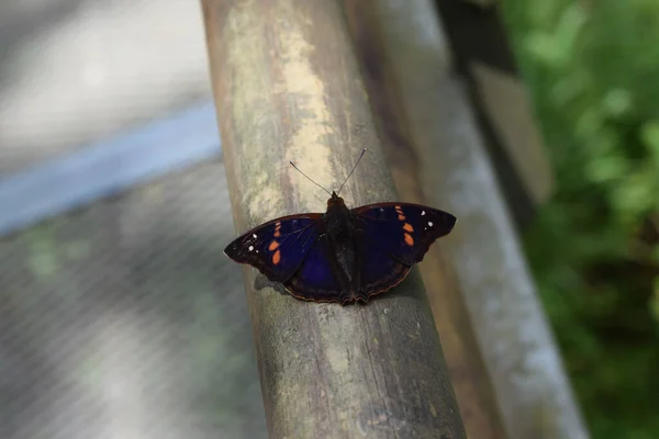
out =
[[201,3],[0,1],[0,179],[211,99]]

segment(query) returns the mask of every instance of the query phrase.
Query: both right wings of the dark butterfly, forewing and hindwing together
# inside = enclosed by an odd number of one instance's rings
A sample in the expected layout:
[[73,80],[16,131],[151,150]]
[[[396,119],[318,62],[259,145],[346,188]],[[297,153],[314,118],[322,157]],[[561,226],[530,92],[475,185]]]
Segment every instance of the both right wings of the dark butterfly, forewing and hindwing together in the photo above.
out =
[[353,212],[362,234],[360,291],[369,295],[400,283],[457,221],[447,212],[409,203],[369,204]]

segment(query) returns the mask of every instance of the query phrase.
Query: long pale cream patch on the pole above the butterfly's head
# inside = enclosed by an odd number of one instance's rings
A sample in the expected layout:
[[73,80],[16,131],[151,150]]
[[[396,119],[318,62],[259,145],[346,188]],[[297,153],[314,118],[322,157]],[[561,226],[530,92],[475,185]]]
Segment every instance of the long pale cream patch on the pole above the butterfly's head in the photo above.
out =
[[[282,11],[280,16],[300,14],[289,2],[282,1],[281,7],[287,11]],[[275,85],[273,91],[283,95],[289,112],[294,115],[291,117],[293,126],[287,145],[287,158],[294,160],[305,173],[313,176],[319,184],[331,188],[334,183],[330,166],[332,151],[323,143],[323,137],[333,134],[331,127],[336,125],[336,121],[327,109],[326,102],[330,101],[330,97],[325,85],[311,64],[315,46],[306,36],[313,31],[304,32],[300,26],[303,21],[305,20],[301,18],[299,21],[280,22],[277,27],[282,72],[281,80]],[[311,29],[313,23],[308,22],[306,25]],[[301,185],[311,184],[302,182],[299,180],[301,176],[294,173],[291,175],[292,181],[298,180]],[[302,190],[299,200],[302,205],[317,205],[317,192],[315,189]]]

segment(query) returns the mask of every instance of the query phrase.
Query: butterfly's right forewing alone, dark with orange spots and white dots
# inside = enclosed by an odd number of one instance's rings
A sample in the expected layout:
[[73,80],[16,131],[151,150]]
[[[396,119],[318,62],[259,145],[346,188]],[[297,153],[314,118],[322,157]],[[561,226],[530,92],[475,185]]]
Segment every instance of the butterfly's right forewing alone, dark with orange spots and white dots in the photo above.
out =
[[447,212],[410,203],[369,204],[353,212],[369,240],[366,247],[378,248],[407,267],[420,262],[431,245],[456,224]]

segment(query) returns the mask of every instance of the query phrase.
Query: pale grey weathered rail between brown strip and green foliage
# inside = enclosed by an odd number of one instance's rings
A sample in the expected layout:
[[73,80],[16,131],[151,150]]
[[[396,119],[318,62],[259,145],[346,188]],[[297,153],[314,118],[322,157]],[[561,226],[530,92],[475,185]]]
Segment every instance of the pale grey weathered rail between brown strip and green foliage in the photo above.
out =
[[587,438],[433,3],[372,4],[421,187],[433,205],[460,218],[442,248],[465,294],[505,429],[513,439]]

